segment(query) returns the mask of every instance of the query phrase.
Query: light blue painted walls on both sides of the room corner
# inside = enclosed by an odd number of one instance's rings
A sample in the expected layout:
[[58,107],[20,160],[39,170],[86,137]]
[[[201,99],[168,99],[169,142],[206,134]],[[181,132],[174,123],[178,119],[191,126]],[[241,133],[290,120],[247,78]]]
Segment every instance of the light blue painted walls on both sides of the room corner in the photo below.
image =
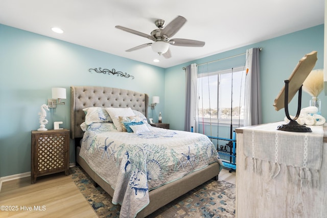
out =
[[[318,61],[314,69],[323,68],[323,25],[168,69],[0,25],[0,177],[30,171],[31,130],[39,127],[38,112],[40,106],[51,98],[52,87],[59,86],[67,90],[67,99],[64,100],[66,104],[59,105],[53,113],[48,112],[47,116],[50,123],[63,121],[64,128],[69,128],[69,87],[99,85],[148,93],[150,98],[159,96],[160,103],[153,115],[150,110],[149,117],[153,116],[154,121],[157,121],[159,112],[162,112],[162,122],[170,123],[172,129],[183,130],[185,73],[182,68],[193,62],[200,64],[245,53],[246,49],[252,47],[263,48],[263,121],[268,123],[283,120],[284,110],[274,111],[274,98],[303,55],[317,51]],[[224,69],[243,66],[244,62],[245,57],[219,61],[217,64]],[[99,67],[110,70],[114,68],[133,75],[135,79],[88,72],[89,68]],[[327,106],[327,97],[323,94],[319,97],[324,108]],[[303,107],[308,106],[310,98],[309,94],[303,92]],[[296,111],[297,102],[294,99],[289,105],[290,114]],[[327,117],[327,110],[322,110],[322,116]],[[52,128],[50,123],[46,126],[49,129]],[[221,129],[221,132],[225,132],[228,137],[229,131]],[[75,161],[73,144],[71,140],[71,162]]]

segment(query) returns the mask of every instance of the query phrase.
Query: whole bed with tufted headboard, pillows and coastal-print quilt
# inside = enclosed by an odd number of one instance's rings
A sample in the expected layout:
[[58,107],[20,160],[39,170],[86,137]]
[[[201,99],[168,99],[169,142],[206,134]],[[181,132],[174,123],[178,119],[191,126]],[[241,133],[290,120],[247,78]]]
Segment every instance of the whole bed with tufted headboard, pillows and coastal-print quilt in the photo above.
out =
[[[223,166],[206,136],[152,127],[147,123],[148,108],[149,96],[144,93],[71,86],[71,138],[75,139],[76,162],[113,197],[112,203],[122,205],[121,217],[145,217],[202,183],[213,178],[218,180]],[[97,110],[99,122],[91,116]],[[100,116],[99,110],[108,114]],[[124,116],[116,116],[121,111]],[[127,132],[119,131],[117,122],[121,124],[119,128],[125,125],[123,130]],[[178,145],[178,138],[184,134],[189,134],[181,139],[182,144],[188,144],[186,148]],[[197,139],[190,145],[191,138]],[[164,147],[165,140],[175,147]],[[204,153],[196,156],[200,150]],[[177,159],[170,156],[173,151],[183,156]],[[136,159],[141,163],[136,163]],[[99,160],[106,162],[99,163]],[[175,165],[171,167],[169,162]],[[182,175],[174,175],[173,171]]]

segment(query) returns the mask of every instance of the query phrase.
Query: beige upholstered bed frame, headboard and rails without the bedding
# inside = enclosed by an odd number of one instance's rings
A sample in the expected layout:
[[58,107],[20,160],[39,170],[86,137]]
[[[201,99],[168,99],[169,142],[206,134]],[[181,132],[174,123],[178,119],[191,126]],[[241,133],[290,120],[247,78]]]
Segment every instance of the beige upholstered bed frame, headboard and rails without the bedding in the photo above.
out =
[[[107,88],[100,86],[71,86],[71,138],[75,139],[76,163],[100,185],[108,194],[113,196],[113,189],[100,176],[92,170],[84,159],[80,158],[79,146],[83,131],[80,124],[84,122],[85,107],[131,107],[133,110],[143,113],[148,118],[149,96],[129,90]],[[162,206],[175,200],[181,195],[215,178],[218,180],[220,166],[213,163],[204,169],[197,170],[180,180],[161,186],[149,192],[150,203],[137,217],[145,217]]]

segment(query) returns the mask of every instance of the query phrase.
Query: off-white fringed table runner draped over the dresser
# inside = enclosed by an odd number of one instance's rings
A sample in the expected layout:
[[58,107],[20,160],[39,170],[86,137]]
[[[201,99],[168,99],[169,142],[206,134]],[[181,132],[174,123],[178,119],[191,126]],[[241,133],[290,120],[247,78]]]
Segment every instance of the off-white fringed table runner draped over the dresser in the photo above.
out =
[[319,186],[322,162],[323,127],[308,126],[312,133],[277,130],[283,122],[251,126],[244,129],[244,155],[252,161],[252,170],[262,173],[262,161],[270,164],[270,178],[278,176],[281,165],[288,169],[289,181]]

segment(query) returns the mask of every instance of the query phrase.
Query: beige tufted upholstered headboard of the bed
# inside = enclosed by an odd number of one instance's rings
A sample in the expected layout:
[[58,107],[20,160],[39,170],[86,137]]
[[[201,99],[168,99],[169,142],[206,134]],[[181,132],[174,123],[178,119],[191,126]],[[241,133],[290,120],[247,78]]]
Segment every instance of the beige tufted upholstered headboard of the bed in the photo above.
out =
[[148,117],[148,94],[101,86],[71,86],[71,138],[82,138],[86,107],[131,107]]

